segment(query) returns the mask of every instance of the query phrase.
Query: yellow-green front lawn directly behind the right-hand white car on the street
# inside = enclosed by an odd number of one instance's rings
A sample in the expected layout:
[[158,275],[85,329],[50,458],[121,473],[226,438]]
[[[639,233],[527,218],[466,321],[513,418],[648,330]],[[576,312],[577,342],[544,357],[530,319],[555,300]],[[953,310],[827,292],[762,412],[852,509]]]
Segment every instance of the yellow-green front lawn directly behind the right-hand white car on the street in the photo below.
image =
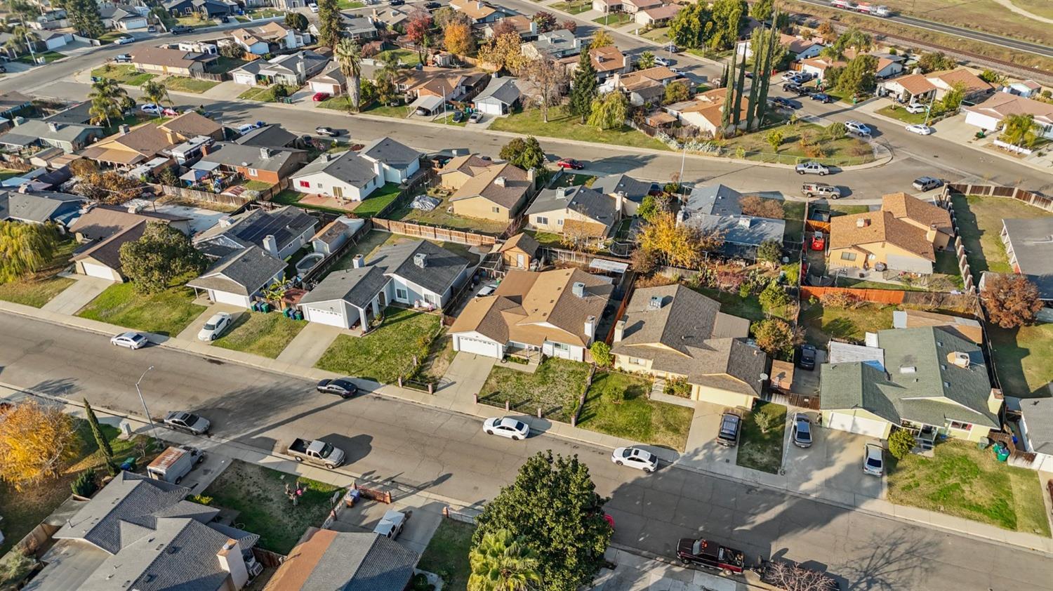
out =
[[[611,401],[612,392],[623,392],[624,400]],[[651,400],[648,397],[650,393],[650,379],[616,372],[596,372],[585,395],[578,427],[683,451],[694,412],[688,407]]]

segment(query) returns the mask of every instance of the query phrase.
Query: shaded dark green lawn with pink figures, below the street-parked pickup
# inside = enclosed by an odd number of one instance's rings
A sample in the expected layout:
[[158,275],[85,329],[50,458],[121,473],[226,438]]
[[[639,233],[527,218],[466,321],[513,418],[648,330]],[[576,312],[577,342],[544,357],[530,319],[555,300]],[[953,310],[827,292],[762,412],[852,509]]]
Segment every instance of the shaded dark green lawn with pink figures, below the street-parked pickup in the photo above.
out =
[[[297,480],[306,485],[306,490],[293,507],[284,485],[293,487]],[[342,489],[234,459],[200,494],[212,497],[210,507],[237,511],[234,521],[259,534],[260,548],[289,554],[309,527],[322,525],[337,490]]]

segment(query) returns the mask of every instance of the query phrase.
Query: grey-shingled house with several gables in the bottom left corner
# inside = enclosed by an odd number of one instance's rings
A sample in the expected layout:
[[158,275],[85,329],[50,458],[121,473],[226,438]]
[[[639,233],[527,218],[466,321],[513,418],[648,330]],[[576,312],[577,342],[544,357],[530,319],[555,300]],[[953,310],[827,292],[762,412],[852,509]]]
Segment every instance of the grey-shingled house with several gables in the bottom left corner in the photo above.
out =
[[32,591],[238,591],[262,570],[259,539],[216,521],[191,489],[121,471],[52,536]]

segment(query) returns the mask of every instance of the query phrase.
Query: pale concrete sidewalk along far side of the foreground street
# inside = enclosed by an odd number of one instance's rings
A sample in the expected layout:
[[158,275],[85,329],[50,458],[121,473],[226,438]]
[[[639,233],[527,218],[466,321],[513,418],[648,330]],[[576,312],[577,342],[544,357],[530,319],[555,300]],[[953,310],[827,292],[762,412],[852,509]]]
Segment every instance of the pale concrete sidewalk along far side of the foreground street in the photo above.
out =
[[[66,316],[8,301],[0,301],[0,311],[28,316],[39,320],[56,324],[64,324],[103,335],[113,335],[126,330],[122,327],[116,327],[105,322],[88,320],[76,316]],[[303,367],[298,363],[280,361],[278,359],[269,359],[249,353],[242,353],[240,351],[213,348],[206,343],[198,342],[196,340],[171,338],[152,334],[147,334],[147,337],[152,342],[156,342],[160,347],[179,349],[203,357],[241,363],[274,373],[295,376],[301,379],[318,380],[323,378],[339,377],[338,374],[316,368]],[[355,382],[361,390],[366,392],[372,392],[374,394],[408,402],[441,408],[471,416],[489,417],[501,414],[500,409],[486,405],[476,405],[472,400],[468,400],[462,396],[432,395],[426,392],[399,388],[395,385],[380,385],[375,381],[364,379],[355,379]],[[570,425],[563,422],[554,422],[533,416],[517,416],[521,420],[528,422],[535,433],[555,435],[557,437],[582,441],[584,444],[609,449],[627,446],[642,447],[656,454],[663,464],[673,468],[691,470],[696,473],[715,476],[727,480],[767,487],[797,497],[812,498],[843,509],[863,511],[872,515],[890,517],[902,521],[919,523],[934,529],[961,532],[1004,544],[1010,544],[1021,548],[1053,554],[1053,538],[1041,537],[1034,534],[1011,532],[994,526],[970,521],[968,519],[953,517],[934,511],[893,505],[887,500],[874,498],[872,496],[873,492],[871,491],[854,492],[840,489],[829,489],[826,487],[809,487],[809,490],[800,490],[787,475],[769,474],[766,472],[750,470],[736,466],[732,461],[712,461],[712,457],[710,457],[709,454],[699,455],[696,453],[696,450],[689,450],[687,453],[681,454],[667,448],[640,446],[637,441],[571,427]],[[255,450],[252,453],[259,454],[260,452]]]

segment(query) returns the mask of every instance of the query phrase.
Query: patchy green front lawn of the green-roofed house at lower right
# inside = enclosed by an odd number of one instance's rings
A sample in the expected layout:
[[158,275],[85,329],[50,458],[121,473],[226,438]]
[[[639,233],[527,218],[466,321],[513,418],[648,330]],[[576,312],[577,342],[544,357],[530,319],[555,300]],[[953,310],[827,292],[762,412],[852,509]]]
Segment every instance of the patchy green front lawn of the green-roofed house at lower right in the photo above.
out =
[[889,500],[1002,529],[1050,535],[1038,473],[997,461],[991,449],[948,440],[934,456],[910,454],[889,467]]

